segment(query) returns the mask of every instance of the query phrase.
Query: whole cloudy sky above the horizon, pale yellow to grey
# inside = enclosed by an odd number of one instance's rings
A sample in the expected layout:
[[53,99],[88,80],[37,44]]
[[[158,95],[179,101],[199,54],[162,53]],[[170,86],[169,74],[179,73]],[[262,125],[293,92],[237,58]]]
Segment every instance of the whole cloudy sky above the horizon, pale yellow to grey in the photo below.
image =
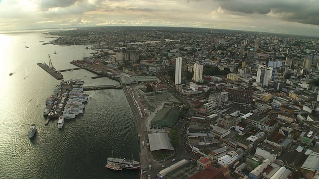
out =
[[110,25],[319,36],[319,0],[0,0],[0,31]]

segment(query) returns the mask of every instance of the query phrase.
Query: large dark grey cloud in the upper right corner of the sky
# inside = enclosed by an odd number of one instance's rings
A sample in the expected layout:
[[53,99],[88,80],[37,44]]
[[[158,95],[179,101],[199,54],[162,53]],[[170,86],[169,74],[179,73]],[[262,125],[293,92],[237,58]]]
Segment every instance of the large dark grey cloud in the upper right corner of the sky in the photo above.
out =
[[215,0],[221,8],[246,14],[272,12],[286,21],[319,25],[319,0]]

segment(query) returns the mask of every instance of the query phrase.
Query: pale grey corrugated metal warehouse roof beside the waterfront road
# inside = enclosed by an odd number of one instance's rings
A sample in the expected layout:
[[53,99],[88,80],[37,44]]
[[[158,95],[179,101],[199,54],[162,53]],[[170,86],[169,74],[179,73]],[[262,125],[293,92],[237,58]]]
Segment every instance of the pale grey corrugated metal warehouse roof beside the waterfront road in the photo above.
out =
[[170,140],[167,133],[153,133],[149,134],[150,150],[174,150],[170,144]]

